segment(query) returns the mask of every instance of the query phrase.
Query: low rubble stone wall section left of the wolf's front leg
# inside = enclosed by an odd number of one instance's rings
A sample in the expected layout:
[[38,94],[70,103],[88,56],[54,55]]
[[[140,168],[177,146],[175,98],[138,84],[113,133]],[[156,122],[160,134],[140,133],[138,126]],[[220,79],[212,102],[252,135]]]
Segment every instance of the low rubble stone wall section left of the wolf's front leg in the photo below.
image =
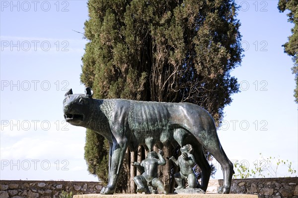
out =
[[62,191],[74,195],[100,193],[99,182],[0,181],[0,198],[59,198]]

